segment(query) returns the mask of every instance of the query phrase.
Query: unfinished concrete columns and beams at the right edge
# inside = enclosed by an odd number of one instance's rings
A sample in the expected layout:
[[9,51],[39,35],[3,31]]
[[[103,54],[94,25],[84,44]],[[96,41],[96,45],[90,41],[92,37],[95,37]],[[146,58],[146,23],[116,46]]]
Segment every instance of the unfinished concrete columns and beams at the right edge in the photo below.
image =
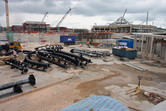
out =
[[141,51],[141,57],[158,59],[166,62],[165,35],[136,34],[134,36],[134,49]]

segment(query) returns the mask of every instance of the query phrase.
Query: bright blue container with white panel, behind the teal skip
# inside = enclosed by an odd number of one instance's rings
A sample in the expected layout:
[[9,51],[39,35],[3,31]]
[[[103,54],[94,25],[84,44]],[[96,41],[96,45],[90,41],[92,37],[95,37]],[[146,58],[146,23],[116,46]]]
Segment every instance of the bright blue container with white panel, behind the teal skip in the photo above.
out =
[[133,40],[119,40],[119,46],[126,46],[128,48],[133,48]]

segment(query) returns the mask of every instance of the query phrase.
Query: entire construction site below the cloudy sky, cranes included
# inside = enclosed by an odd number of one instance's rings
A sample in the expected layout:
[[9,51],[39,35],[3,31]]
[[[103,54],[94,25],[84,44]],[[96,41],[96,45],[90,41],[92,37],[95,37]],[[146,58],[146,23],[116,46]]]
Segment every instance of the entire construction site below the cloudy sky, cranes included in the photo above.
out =
[[[91,30],[0,27],[0,111],[165,111],[166,32],[122,17]],[[10,18],[12,19],[12,18]]]

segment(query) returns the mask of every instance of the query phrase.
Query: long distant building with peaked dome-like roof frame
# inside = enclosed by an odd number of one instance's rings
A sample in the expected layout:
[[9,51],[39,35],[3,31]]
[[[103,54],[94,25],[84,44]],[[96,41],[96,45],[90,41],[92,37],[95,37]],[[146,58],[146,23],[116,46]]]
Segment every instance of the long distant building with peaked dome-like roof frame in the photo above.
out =
[[157,27],[152,25],[136,25],[129,23],[125,18],[120,17],[109,25],[94,25],[93,32],[114,32],[114,33],[149,33],[156,32]]

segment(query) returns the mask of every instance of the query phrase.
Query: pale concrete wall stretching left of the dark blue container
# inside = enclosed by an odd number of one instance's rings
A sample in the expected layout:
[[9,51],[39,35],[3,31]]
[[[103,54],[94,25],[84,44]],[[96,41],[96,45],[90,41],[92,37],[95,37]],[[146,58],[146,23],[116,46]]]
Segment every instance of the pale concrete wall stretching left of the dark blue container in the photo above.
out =
[[[0,40],[6,40],[6,33],[0,33]],[[13,40],[20,42],[60,42],[60,35],[46,35],[39,33],[13,33]]]

